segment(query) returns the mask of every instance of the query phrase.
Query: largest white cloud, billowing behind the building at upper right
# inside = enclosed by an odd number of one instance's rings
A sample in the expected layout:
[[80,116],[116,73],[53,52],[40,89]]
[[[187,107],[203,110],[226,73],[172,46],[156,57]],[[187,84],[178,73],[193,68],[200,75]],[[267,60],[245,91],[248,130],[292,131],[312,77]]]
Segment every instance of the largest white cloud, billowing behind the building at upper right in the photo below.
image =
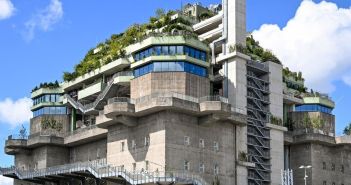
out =
[[253,36],[285,66],[302,71],[308,87],[332,92],[334,81],[351,85],[351,7],[304,0],[284,28],[265,24]]

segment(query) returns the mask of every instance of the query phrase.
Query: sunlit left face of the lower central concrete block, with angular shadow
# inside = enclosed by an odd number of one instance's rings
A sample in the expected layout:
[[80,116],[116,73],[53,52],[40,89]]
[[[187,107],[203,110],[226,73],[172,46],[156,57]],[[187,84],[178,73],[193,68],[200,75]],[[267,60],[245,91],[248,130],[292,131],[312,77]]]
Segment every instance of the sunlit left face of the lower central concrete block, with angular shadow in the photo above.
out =
[[[108,128],[107,162],[114,166],[124,166],[126,170],[164,171],[165,169],[165,114],[162,112],[142,117],[135,127],[116,124]],[[145,137],[150,138],[149,146],[145,146]],[[133,148],[132,142],[136,146]],[[122,151],[122,142],[124,151]]]

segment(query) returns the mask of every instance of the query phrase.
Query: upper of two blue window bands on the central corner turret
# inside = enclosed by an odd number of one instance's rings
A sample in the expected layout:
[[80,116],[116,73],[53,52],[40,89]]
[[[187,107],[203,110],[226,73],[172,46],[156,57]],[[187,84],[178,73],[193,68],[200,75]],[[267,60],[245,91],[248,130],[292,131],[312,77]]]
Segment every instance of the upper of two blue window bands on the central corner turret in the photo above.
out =
[[189,46],[151,46],[134,54],[134,60],[139,61],[149,56],[187,55],[206,62],[206,52]]

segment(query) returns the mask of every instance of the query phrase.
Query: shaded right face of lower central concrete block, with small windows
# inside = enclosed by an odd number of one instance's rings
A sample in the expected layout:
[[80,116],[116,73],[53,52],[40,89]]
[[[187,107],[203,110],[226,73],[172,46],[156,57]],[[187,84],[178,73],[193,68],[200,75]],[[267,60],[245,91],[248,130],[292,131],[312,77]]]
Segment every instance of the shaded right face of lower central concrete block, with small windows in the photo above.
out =
[[[198,118],[175,112],[166,112],[166,165],[171,171],[183,171],[184,162],[188,161],[191,173],[199,173],[201,163],[205,172],[200,173],[208,182],[215,178],[214,166],[219,166],[220,183],[233,184],[235,178],[235,126],[230,123],[210,123],[202,125]],[[184,137],[190,139],[190,145],[184,144]],[[205,147],[200,147],[200,139]],[[218,142],[219,151],[214,150]]]

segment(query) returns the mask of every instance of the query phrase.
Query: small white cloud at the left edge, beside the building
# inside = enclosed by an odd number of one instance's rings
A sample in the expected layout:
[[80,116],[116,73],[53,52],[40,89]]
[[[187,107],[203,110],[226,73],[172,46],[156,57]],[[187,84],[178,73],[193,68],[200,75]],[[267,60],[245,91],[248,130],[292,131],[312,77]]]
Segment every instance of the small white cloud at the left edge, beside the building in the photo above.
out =
[[27,97],[16,101],[10,98],[0,101],[0,122],[12,127],[28,122],[32,116],[31,106],[32,100]]

